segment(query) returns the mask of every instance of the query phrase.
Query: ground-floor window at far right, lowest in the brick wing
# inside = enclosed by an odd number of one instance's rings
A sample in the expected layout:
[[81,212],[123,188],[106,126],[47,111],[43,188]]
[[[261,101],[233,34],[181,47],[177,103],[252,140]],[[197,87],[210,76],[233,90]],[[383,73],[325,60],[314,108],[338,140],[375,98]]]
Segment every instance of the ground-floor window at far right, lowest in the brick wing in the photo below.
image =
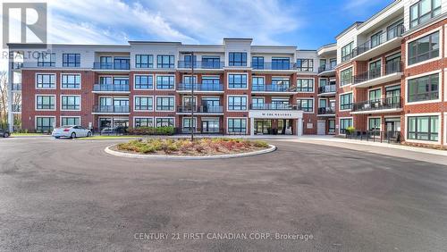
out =
[[439,118],[434,116],[409,116],[408,139],[437,141],[439,134]]

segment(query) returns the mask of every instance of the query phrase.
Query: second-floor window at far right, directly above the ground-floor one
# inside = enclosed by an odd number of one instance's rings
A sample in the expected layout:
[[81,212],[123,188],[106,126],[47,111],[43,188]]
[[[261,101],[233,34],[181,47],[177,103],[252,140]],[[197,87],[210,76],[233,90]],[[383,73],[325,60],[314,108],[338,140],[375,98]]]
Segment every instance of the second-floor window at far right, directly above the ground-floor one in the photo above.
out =
[[439,98],[439,73],[408,80],[407,89],[409,103],[436,100]]

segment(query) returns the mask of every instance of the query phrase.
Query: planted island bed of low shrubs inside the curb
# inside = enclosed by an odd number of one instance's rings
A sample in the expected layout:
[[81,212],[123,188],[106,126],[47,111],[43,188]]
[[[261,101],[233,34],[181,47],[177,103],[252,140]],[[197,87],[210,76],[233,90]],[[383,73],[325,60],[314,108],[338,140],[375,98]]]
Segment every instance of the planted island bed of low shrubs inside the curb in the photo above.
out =
[[265,141],[248,139],[136,139],[114,150],[148,155],[233,155],[267,149]]

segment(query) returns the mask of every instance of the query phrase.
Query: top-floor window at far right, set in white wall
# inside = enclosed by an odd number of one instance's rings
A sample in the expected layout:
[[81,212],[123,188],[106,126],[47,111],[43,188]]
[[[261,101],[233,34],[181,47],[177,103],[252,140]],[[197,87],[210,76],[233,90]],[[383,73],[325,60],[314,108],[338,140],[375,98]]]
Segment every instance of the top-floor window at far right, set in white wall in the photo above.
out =
[[409,28],[441,14],[441,0],[420,0],[409,7]]

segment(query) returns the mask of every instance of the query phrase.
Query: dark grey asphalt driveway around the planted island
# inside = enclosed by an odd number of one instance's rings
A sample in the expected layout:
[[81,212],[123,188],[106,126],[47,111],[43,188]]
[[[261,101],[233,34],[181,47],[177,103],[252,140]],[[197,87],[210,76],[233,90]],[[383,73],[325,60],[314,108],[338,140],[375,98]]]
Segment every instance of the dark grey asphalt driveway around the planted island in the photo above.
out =
[[441,164],[283,141],[149,161],[105,154],[114,142],[0,139],[0,251],[447,248]]

